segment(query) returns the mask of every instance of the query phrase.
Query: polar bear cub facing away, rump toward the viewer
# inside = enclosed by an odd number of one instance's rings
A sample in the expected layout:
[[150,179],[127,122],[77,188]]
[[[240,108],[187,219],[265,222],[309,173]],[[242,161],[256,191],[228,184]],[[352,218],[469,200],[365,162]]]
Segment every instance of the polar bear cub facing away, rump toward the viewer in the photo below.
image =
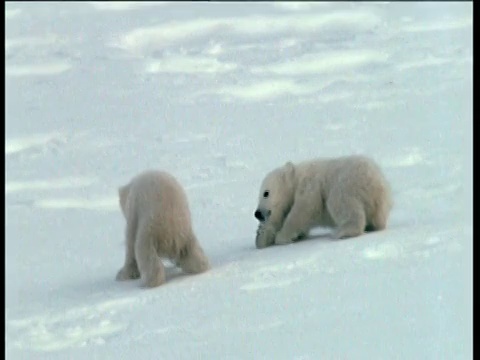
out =
[[145,171],[118,189],[127,222],[125,264],[117,280],[142,278],[147,287],[165,282],[160,258],[172,260],[186,273],[201,273],[209,261],[195,237],[187,197],[164,171]]

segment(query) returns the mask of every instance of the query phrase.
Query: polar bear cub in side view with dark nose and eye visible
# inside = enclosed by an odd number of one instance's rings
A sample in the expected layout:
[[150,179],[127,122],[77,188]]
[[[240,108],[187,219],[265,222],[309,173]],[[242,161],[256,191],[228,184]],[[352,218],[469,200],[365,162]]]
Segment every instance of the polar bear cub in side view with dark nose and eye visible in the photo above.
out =
[[383,230],[392,204],[387,180],[365,156],[287,162],[260,187],[256,247],[289,244],[315,226],[335,228],[337,239]]

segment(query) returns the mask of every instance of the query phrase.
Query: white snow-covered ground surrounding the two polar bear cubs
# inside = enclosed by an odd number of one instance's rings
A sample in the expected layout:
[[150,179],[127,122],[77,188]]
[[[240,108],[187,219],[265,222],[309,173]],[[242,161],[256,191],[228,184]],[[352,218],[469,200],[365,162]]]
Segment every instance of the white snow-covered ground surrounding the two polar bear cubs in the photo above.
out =
[[[472,3],[7,3],[8,359],[472,357]],[[386,231],[257,250],[265,173],[363,153]],[[211,271],[115,282],[117,188],[189,196]]]

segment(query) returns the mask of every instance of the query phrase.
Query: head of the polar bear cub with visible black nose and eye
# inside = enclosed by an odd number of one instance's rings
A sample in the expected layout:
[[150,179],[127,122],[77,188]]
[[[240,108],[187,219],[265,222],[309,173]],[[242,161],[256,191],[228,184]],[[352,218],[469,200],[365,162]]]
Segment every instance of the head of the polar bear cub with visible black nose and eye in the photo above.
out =
[[255,218],[266,222],[270,218],[283,220],[293,202],[295,166],[287,162],[267,174],[260,186]]

